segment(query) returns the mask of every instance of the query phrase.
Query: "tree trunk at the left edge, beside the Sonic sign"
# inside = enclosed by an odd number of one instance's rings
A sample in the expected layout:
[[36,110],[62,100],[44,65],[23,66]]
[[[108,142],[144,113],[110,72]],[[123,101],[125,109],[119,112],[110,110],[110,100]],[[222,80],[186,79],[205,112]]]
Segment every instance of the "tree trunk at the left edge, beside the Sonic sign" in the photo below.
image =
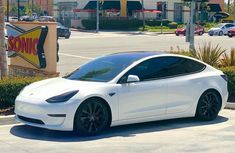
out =
[[0,79],[7,75],[4,26],[4,0],[0,0]]

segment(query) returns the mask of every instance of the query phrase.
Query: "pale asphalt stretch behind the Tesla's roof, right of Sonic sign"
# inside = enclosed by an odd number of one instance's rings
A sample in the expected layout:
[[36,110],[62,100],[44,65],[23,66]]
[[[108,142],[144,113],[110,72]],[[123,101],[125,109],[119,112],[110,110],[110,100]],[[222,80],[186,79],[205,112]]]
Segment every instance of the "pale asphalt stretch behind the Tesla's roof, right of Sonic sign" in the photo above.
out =
[[[227,36],[195,36],[195,47],[211,42],[213,46],[219,44],[228,52],[235,47],[235,38]],[[124,51],[169,51],[173,49],[188,50],[189,43],[184,36],[174,34],[157,34],[142,32],[94,32],[72,31],[70,39],[59,39],[60,61],[58,71],[61,76],[73,71],[79,65],[94,57]]]

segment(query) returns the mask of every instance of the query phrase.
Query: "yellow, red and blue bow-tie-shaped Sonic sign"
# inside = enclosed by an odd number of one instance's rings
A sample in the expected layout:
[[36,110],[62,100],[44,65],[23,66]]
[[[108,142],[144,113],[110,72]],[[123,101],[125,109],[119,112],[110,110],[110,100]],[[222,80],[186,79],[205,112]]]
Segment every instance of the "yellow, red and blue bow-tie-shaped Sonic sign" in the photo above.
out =
[[28,31],[8,24],[8,56],[19,56],[38,69],[47,66],[44,53],[44,42],[47,37],[48,27],[38,26]]

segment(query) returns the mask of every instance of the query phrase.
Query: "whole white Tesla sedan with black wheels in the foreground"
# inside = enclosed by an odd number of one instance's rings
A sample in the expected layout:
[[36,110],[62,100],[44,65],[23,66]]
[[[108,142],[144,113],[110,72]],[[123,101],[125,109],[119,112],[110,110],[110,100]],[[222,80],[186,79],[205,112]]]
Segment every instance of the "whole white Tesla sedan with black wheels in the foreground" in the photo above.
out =
[[213,120],[227,98],[227,77],[210,65],[162,52],[127,52],[25,87],[15,113],[31,126],[94,135],[123,124],[194,116]]

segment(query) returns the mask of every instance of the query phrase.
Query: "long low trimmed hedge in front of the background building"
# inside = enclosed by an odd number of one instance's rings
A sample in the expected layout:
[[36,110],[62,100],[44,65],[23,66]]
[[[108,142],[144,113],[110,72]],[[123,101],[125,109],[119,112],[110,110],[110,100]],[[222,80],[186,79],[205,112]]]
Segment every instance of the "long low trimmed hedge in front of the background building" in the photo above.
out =
[[[147,26],[160,26],[161,21],[158,20],[147,20],[145,21]],[[168,26],[170,21],[164,20],[163,26]],[[95,19],[86,19],[82,20],[82,25],[87,30],[96,29],[96,20]],[[142,20],[137,19],[101,19],[100,20],[100,29],[105,30],[133,30],[138,29],[143,26]],[[176,26],[177,27],[177,26]]]

